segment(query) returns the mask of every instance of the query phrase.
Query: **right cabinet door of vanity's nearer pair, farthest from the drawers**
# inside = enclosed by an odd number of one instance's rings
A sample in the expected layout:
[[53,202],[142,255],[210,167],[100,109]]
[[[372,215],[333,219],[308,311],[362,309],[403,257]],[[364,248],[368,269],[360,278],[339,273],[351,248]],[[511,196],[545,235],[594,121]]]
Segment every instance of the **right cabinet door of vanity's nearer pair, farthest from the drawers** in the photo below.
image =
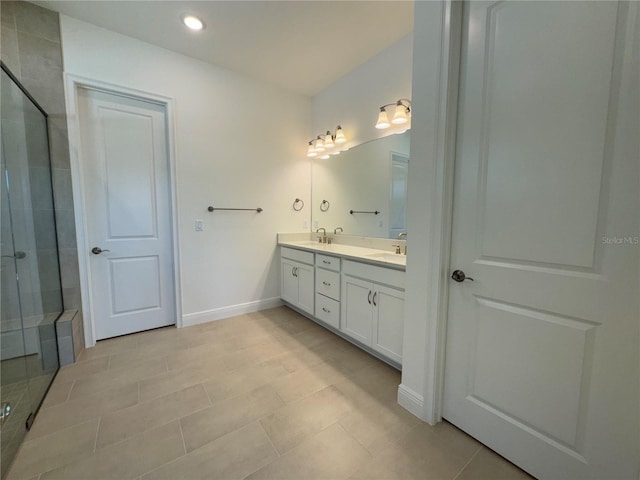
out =
[[404,292],[376,285],[373,304],[371,347],[391,360],[402,363]]

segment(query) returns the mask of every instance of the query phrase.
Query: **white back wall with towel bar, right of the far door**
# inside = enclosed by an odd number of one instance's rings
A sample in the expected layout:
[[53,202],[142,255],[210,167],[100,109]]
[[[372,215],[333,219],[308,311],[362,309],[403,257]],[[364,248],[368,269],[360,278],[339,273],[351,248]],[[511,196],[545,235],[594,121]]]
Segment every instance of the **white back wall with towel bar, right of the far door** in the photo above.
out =
[[276,302],[276,233],[310,219],[291,207],[311,203],[310,100],[70,17],[61,33],[66,73],[174,99],[185,324]]

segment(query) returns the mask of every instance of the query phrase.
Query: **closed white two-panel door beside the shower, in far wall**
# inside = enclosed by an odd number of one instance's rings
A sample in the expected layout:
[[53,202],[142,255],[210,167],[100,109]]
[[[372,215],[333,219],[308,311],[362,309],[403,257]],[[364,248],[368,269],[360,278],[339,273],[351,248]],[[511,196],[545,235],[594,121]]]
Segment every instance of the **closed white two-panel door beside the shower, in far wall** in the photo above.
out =
[[78,106],[95,338],[175,324],[165,109],[86,89]]

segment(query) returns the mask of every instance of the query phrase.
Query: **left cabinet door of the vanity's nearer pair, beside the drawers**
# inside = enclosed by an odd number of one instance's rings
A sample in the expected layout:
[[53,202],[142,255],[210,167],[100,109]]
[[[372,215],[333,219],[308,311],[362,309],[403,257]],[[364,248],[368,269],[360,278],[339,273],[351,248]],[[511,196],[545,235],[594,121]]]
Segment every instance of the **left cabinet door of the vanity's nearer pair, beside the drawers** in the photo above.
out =
[[342,280],[342,321],[344,333],[371,345],[373,285],[345,275]]

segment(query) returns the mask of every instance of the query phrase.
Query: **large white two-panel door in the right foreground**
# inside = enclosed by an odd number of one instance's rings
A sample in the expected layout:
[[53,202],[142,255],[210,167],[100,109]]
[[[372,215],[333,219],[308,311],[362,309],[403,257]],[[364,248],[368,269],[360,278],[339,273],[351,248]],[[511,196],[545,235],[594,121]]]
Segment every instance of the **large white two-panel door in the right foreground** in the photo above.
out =
[[465,4],[443,416],[638,479],[638,4]]

